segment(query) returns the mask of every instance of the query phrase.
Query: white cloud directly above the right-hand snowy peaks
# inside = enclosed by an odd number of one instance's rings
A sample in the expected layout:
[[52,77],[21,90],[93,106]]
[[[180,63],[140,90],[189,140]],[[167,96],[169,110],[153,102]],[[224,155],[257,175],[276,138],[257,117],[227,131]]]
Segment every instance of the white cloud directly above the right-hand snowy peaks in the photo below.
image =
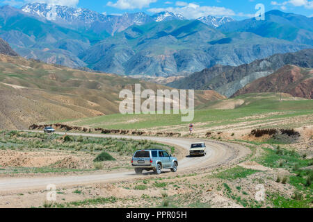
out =
[[[177,5],[177,3],[176,3]],[[195,3],[188,3],[182,7],[168,7],[168,8],[150,8],[150,12],[174,12],[183,15],[187,19],[197,19],[202,16],[214,15],[214,16],[232,16],[236,13],[228,8],[216,7],[216,6],[199,6]]]

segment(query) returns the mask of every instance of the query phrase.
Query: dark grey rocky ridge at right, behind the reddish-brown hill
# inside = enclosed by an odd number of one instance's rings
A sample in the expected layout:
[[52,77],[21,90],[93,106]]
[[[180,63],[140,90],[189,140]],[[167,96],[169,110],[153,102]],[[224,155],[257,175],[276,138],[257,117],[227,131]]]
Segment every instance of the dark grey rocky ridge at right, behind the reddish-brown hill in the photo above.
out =
[[215,65],[168,85],[179,89],[211,89],[230,97],[248,83],[271,75],[284,65],[313,68],[313,49],[275,54],[238,67]]

